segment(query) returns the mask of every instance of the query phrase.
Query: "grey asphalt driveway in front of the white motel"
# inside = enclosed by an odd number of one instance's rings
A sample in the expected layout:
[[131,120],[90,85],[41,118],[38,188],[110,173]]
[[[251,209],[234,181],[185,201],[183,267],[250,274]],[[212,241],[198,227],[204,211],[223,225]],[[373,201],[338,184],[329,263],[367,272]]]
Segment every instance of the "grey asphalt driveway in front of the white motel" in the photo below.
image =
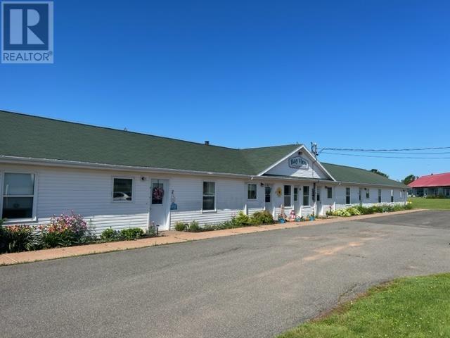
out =
[[450,271],[449,223],[427,211],[0,267],[0,336],[273,337],[373,284]]

